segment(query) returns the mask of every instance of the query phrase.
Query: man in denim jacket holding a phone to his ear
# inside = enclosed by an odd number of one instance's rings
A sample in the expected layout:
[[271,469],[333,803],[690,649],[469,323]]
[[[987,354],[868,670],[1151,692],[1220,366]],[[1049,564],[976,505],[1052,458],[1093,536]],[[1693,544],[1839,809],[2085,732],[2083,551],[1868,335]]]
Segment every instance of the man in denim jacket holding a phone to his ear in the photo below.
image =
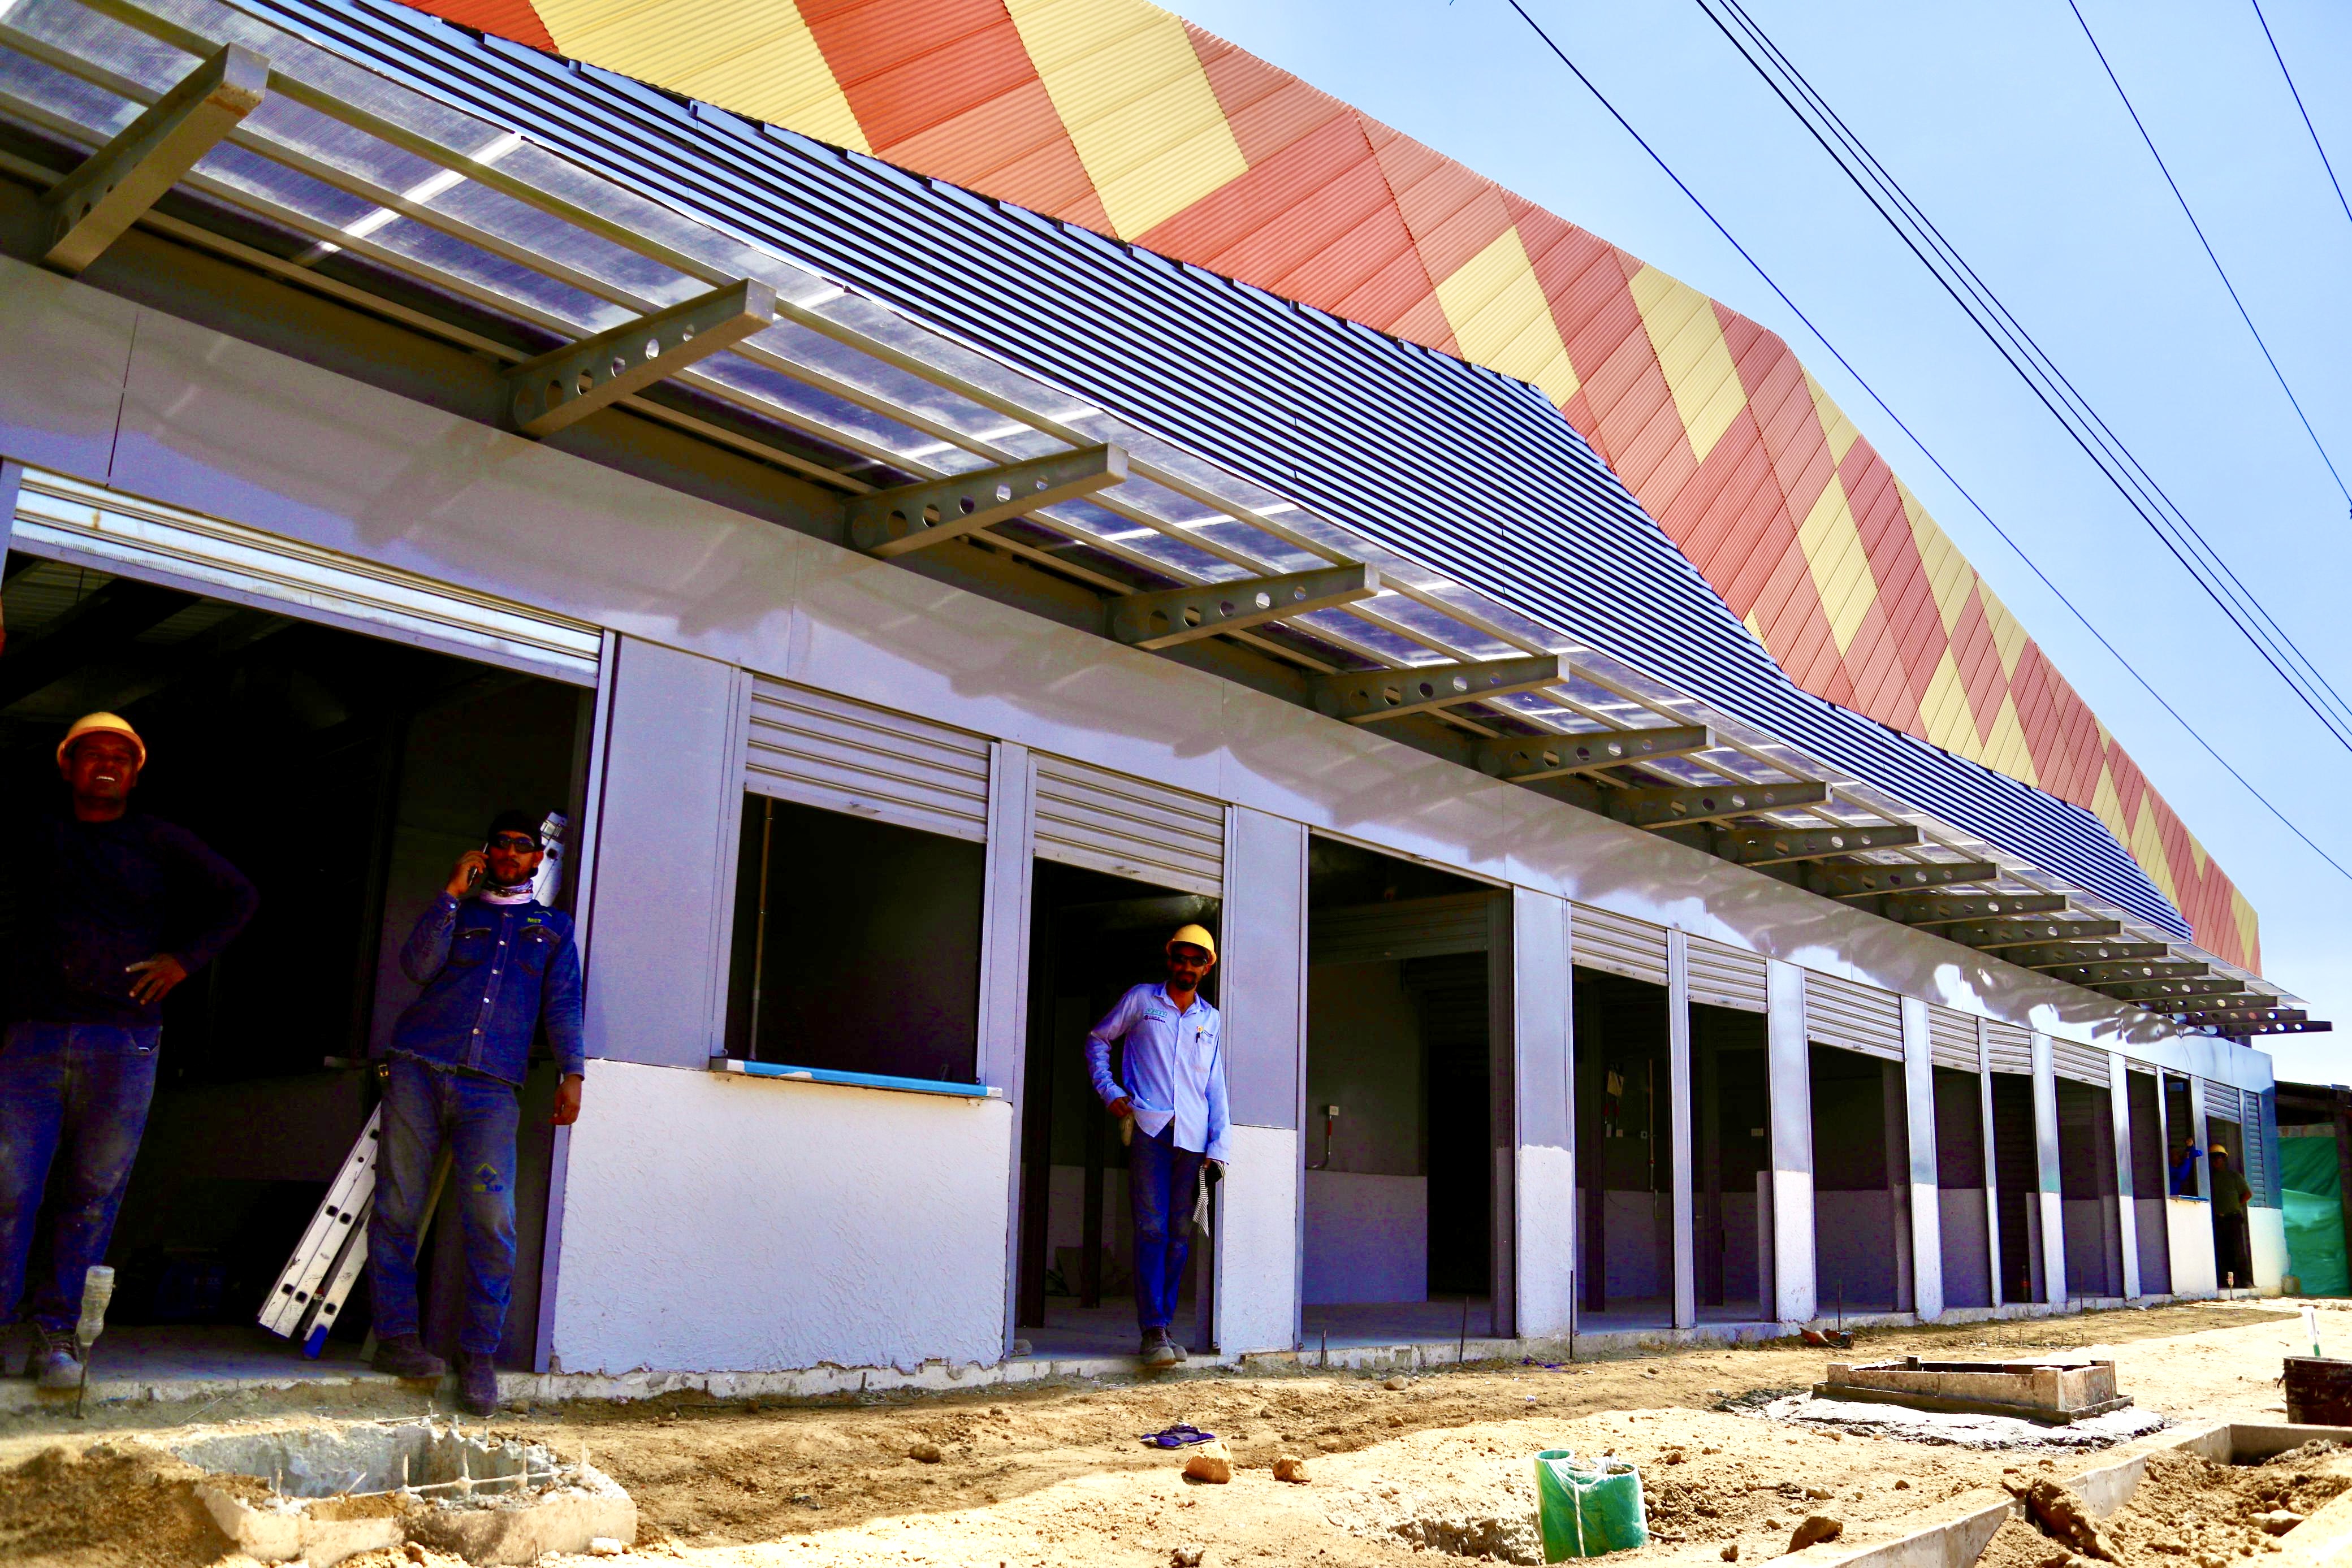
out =
[[459,856],[400,950],[402,973],[423,992],[393,1025],[383,1065],[376,1208],[367,1220],[376,1371],[447,1371],[419,1338],[416,1232],[433,1164],[449,1150],[466,1232],[459,1403],[473,1415],[499,1408],[496,1354],[515,1284],[515,1128],[541,1025],[560,1072],[555,1126],[581,1114],[581,959],[572,917],[532,896],[543,858],[539,818],[524,811],[501,811],[482,849]]

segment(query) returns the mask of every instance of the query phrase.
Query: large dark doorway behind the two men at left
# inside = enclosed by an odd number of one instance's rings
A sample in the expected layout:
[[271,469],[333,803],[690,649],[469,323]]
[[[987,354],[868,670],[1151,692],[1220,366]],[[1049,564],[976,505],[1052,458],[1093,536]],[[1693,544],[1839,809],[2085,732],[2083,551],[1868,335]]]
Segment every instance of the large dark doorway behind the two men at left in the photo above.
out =
[[[108,1251],[108,1342],[122,1354],[141,1335],[162,1375],[296,1359],[254,1316],[374,1107],[372,1048],[416,992],[400,945],[496,811],[579,820],[588,693],[26,552],[7,557],[5,618],[9,820],[59,806],[64,726],[113,710],[148,745],[134,809],[188,827],[261,891],[252,924],[165,1001],[155,1100]],[[9,931],[26,919],[0,910]],[[499,1349],[510,1368],[536,1354],[553,1093],[553,1063],[534,1063]],[[463,1305],[454,1194],[423,1251],[426,1340],[449,1352]],[[353,1356],[367,1321],[362,1276],[325,1354]]]

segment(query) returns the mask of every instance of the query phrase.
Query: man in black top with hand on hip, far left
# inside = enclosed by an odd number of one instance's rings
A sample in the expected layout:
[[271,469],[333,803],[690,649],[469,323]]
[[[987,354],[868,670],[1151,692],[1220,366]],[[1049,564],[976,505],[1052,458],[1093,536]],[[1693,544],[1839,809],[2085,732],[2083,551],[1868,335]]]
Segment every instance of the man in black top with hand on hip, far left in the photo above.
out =
[[66,809],[7,835],[19,943],[0,1044],[0,1324],[31,1302],[45,1389],[82,1375],[82,1274],[106,1260],[146,1133],[162,999],[261,903],[193,832],[129,809],[143,766],[125,719],[75,719],[56,748]]

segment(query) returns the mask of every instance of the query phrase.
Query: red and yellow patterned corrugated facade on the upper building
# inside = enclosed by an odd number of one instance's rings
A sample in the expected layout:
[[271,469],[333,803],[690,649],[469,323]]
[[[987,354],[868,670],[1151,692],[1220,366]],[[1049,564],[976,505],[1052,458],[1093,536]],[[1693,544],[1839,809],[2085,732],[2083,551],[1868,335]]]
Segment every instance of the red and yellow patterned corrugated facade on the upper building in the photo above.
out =
[[1806,691],[2253,907],[1788,343],[1143,0],[421,0],[1531,381]]

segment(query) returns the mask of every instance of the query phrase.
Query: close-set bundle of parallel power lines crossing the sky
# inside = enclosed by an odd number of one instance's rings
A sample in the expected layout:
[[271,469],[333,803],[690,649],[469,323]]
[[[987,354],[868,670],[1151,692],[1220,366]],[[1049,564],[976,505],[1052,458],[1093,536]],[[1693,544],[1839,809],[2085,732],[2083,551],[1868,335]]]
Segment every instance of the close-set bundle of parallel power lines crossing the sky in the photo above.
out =
[[1863,146],[1860,136],[1830,108],[1828,99],[1771,42],[1764,28],[1740,9],[1738,0],[1698,0],[1698,5],[1724,38],[1731,40],[1731,47],[1740,52],[1740,59],[1764,78],[1764,85],[1811,132],[1813,141],[1830,153],[1839,172],[1886,219],[1896,237],[1929,268],[2009,367],[2018,371],[2027,390],[2058,418],[2084,456],[2100,468],[2117,494],[2124,496],[2124,503],[2140,515],[2140,522],[2150,527],[2190,578],[2204,588],[2206,597],[2253,644],[2263,663],[2288,684],[2338,745],[2352,750],[2352,705],[2345,703],[2319,668],[2296,646],[2260,599],[2239,581],[2237,571],[2230,569],[2230,562],[2197,531],[2187,512],[2173,503],[2154,475],[2147,473],[2124,440],[2100,418],[2098,409],[2091,407],[2049,353],[2042,350],[1990,284],[1978,277],[1976,268],[1969,266],[1893,174]]

